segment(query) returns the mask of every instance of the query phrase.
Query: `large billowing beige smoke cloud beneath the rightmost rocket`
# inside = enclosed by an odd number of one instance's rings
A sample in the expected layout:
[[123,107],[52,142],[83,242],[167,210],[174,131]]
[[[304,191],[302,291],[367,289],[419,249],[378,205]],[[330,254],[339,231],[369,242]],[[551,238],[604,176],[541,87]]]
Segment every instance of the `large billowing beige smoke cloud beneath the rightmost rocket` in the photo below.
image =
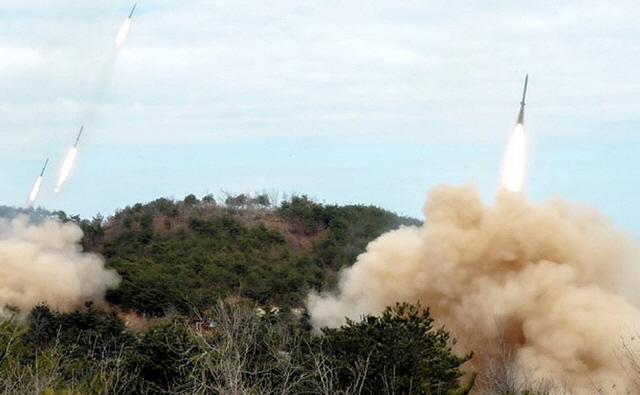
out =
[[620,355],[640,333],[640,311],[624,296],[640,262],[629,233],[560,198],[535,205],[504,192],[486,206],[472,185],[433,189],[424,214],[424,226],[371,242],[336,293],[309,295],[316,327],[420,301],[461,351],[477,352],[481,373],[502,341],[529,379],[576,394],[632,389]]

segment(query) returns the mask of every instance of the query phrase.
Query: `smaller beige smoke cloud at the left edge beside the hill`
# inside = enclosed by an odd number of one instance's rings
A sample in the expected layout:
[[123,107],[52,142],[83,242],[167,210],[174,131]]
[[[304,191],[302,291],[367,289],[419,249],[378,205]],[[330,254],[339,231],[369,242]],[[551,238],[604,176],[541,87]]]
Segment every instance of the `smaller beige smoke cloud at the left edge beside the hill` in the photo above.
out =
[[61,311],[87,300],[102,301],[120,282],[96,254],[79,245],[82,230],[72,222],[26,216],[4,223],[0,235],[0,303],[28,312],[39,303]]

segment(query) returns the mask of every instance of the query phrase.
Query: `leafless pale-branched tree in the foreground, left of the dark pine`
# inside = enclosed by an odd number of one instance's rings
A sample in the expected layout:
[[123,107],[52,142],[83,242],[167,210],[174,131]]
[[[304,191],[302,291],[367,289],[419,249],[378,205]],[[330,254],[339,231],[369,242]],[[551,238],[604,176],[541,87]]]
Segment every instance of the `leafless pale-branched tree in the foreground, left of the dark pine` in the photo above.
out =
[[306,390],[313,375],[303,352],[310,328],[290,312],[269,306],[260,311],[253,304],[219,301],[205,313],[209,328],[195,336],[189,394],[314,393]]

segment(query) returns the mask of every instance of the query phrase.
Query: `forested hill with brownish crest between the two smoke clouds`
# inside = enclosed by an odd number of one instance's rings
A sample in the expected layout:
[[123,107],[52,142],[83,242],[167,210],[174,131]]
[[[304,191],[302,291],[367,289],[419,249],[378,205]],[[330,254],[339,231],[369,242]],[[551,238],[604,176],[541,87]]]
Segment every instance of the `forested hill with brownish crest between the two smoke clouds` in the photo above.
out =
[[294,196],[194,195],[157,199],[113,216],[80,220],[87,251],[122,277],[107,300],[124,310],[191,315],[220,298],[299,306],[310,289],[335,284],[368,242],[420,221],[373,206],[324,205]]

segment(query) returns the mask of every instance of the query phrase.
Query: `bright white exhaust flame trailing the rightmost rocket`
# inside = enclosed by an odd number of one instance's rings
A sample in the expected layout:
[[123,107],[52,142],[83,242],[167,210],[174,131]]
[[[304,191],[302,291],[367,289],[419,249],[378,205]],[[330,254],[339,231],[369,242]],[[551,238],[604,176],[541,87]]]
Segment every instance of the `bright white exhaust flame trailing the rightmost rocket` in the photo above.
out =
[[501,184],[507,191],[522,191],[526,172],[526,158],[524,125],[517,123],[509,136],[507,149],[502,160]]

